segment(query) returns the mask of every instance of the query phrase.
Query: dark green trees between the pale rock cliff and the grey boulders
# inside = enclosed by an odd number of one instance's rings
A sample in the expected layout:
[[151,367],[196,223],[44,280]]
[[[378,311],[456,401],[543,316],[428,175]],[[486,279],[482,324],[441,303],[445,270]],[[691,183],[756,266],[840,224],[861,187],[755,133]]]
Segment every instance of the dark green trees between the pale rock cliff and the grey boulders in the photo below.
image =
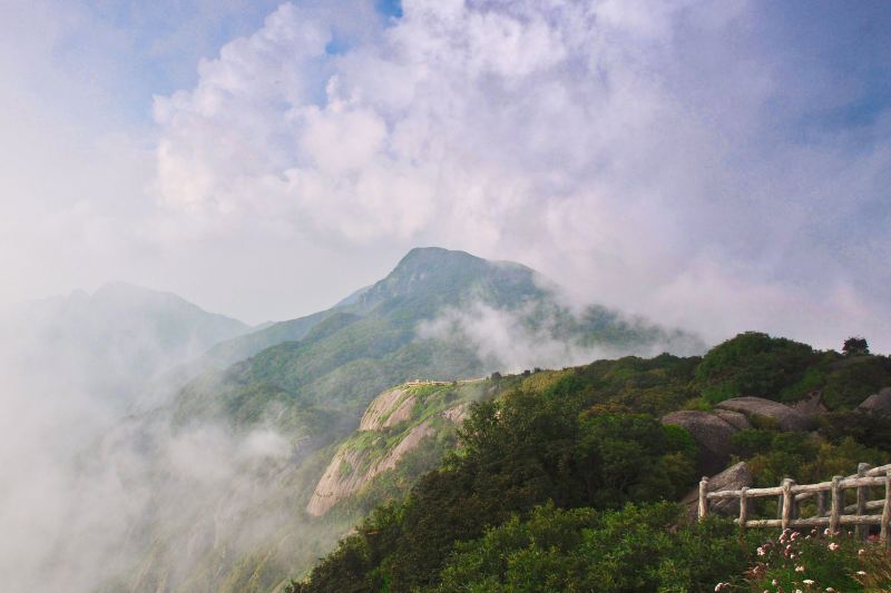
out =
[[646,414],[591,408],[581,385],[565,376],[474,406],[461,454],[347,538],[315,571],[314,590],[431,585],[456,542],[548,501],[610,508],[683,492],[694,476],[688,435]]

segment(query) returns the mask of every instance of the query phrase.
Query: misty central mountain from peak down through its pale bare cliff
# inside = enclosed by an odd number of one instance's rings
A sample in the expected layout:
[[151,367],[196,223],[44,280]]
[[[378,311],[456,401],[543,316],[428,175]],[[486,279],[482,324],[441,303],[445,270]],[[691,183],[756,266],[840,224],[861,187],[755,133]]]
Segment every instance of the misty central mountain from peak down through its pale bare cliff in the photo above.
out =
[[[115,582],[109,591],[155,591],[161,585],[170,591],[268,591],[293,574],[294,566],[309,567],[362,513],[400,496],[454,446],[460,406],[491,391],[487,382],[454,379],[479,378],[517,364],[497,352],[481,353],[453,324],[456,315],[476,307],[531,336],[531,346],[537,339],[552,349],[558,346],[561,365],[567,364],[562,353],[570,350],[590,359],[594,352],[618,356],[704,349],[695,336],[604,307],[570,309],[525,266],[463,251],[413,249],[384,279],[329,310],[214,347],[205,360],[216,357],[215,366],[247,358],[206,370],[185,385],[168,407],[169,428],[146,429],[135,421],[128,429],[139,436],[129,441],[148,442],[144,448],[158,452],[153,475],[167,472],[166,449],[153,441],[165,431],[174,439],[189,439],[208,426],[224,427],[236,442],[272,432],[287,441],[291,454],[238,465],[237,480],[217,486],[203,508],[183,504],[175,484],[159,487],[153,512],[164,515],[170,506],[182,506],[188,508],[187,517],[170,528],[149,525],[143,537],[150,552],[125,575],[126,585]],[[424,324],[443,317],[450,320],[439,333],[422,332]],[[408,384],[419,379],[423,383]],[[430,383],[434,380],[442,383]],[[405,418],[356,432],[369,405],[396,385],[412,397],[411,406],[399,402],[407,405],[400,412]],[[325,475],[336,496],[327,496]],[[321,498],[326,502],[317,503]],[[217,518],[221,514],[224,522]],[[177,554],[184,546],[187,561]]]

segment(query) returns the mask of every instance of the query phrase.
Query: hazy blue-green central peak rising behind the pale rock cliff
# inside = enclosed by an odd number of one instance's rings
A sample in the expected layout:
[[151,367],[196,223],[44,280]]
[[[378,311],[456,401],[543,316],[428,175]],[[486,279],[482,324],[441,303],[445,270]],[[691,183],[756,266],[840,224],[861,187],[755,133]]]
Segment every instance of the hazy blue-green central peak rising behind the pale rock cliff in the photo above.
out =
[[[478,315],[493,333],[512,333],[510,344],[480,344],[488,336]],[[510,352],[523,340],[522,353]],[[481,376],[516,366],[520,355],[564,366],[574,357],[664,349],[689,354],[704,346],[600,306],[572,312],[526,266],[417,248],[385,278],[331,309],[214,347],[208,357],[217,364],[247,359],[187,385],[176,418],[223,417],[235,426],[272,421],[330,438],[335,434],[330,423],[319,425],[320,414],[336,417],[341,432],[351,429],[375,395],[413,378]]]

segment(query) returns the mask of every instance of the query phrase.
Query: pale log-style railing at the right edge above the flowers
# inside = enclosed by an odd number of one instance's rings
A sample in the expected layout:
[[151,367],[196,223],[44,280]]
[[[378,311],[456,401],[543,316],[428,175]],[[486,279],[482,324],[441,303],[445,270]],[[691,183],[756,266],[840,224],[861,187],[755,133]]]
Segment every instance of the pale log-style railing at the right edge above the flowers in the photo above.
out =
[[[870,501],[870,490],[884,487],[884,498]],[[856,503],[845,506],[844,491],[856,488]],[[753,498],[776,496],[777,518],[748,518]],[[801,503],[816,497],[813,516],[801,517]],[[740,517],[735,521],[741,527],[829,527],[835,533],[842,525],[854,525],[856,534],[865,538],[870,525],[881,526],[881,541],[889,545],[889,522],[891,522],[891,464],[870,468],[865,463],[858,466],[858,473],[850,476],[834,476],[832,482],[819,484],[795,484],[786,478],[773,488],[742,488],[708,492],[708,478],[699,482],[699,520],[709,512],[709,503],[724,498],[740,500]],[[829,503],[829,507],[828,507]],[[868,511],[882,510],[881,515],[868,515]]]

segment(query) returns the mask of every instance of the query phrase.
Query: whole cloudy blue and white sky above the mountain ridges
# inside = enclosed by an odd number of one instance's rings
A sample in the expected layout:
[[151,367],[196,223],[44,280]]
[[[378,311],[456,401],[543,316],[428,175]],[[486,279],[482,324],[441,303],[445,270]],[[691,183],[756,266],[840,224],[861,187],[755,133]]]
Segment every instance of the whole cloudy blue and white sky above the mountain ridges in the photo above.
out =
[[411,247],[716,342],[891,352],[884,1],[0,0],[0,305],[248,323]]

